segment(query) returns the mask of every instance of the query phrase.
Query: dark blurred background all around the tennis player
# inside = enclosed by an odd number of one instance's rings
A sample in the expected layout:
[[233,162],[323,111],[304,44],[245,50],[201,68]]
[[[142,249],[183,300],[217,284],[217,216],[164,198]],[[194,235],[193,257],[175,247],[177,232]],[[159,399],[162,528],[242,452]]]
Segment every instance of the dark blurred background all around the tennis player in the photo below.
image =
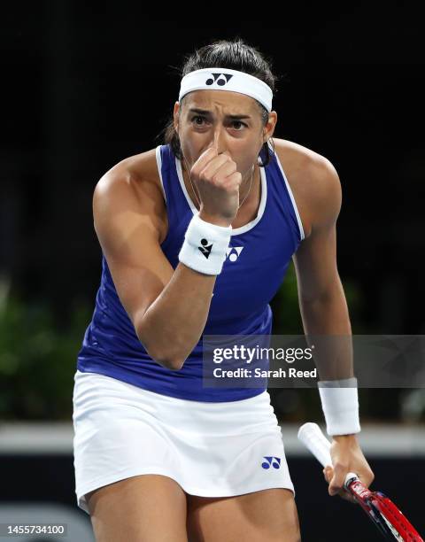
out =
[[[413,6],[296,12],[285,4],[280,15],[274,6],[252,21],[205,12],[159,20],[141,4],[70,0],[4,12],[0,523],[37,510],[62,514],[73,525],[68,539],[91,539],[73,494],[72,393],[101,273],[92,194],[115,163],[162,143],[178,68],[206,43],[237,36],[271,59],[279,77],[275,136],[336,166],[344,198],[338,268],[353,333],[425,333],[425,48]],[[303,333],[293,269],[272,306],[274,334]],[[338,518],[359,525],[356,536],[344,531],[346,540],[379,539],[358,511],[328,497],[321,468],[297,443],[301,422],[323,422],[317,391],[270,394],[303,540],[340,539]],[[375,485],[423,535],[415,496],[425,482],[424,390],[363,389],[359,399],[360,444]]]

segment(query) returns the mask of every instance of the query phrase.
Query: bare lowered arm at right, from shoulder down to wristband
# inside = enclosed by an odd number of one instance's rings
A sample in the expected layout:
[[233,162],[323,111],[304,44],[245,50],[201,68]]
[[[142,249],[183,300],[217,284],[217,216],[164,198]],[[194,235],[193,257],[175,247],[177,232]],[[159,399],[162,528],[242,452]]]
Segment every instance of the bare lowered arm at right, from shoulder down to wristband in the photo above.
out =
[[312,233],[294,255],[298,299],[307,336],[328,336],[316,349],[321,380],[352,376],[352,329],[344,289],[336,266],[336,219],[341,208],[341,184],[326,159],[316,160],[311,205]]

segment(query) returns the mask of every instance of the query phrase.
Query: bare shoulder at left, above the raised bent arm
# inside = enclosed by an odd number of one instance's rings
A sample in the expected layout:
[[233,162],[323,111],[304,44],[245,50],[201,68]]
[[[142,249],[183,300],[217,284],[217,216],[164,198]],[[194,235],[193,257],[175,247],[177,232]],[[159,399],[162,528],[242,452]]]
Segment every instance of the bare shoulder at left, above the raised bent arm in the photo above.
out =
[[137,215],[166,235],[166,205],[158,174],[155,149],[121,160],[97,182],[93,195],[95,227],[112,214]]

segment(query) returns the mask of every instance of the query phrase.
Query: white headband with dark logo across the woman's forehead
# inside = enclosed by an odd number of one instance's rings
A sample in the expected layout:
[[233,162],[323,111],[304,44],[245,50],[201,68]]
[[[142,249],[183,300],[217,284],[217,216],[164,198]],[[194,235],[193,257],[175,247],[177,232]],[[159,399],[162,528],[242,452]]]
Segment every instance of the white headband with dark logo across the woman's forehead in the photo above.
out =
[[272,111],[273,91],[264,81],[250,74],[228,68],[205,68],[182,78],[179,102],[192,90],[228,90],[251,96]]

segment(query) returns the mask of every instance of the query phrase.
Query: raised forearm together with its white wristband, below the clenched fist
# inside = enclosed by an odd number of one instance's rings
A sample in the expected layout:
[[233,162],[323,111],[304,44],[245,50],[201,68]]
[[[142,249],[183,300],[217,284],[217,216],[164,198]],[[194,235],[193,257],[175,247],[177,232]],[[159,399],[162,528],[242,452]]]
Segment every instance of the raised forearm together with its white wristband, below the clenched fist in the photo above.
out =
[[205,221],[199,213],[189,222],[179,252],[181,263],[138,327],[141,342],[161,365],[182,368],[197,345],[216,277],[226,259],[231,230],[229,224]]

